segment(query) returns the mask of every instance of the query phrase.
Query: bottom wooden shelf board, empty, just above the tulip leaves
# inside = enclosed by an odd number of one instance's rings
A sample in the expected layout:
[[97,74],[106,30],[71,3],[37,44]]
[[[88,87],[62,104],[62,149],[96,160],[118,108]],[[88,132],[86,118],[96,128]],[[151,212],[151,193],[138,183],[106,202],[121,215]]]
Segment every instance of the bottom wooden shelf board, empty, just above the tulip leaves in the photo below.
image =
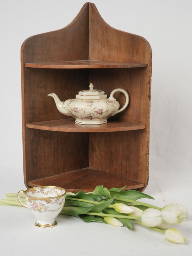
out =
[[85,193],[91,192],[97,185],[104,185],[106,188],[121,188],[130,190],[144,187],[144,183],[133,179],[120,177],[111,173],[106,173],[90,167],[74,170],[71,172],[61,173],[42,179],[31,180],[28,182],[31,187],[36,186],[57,186],[65,188],[66,192],[77,193],[83,190]]

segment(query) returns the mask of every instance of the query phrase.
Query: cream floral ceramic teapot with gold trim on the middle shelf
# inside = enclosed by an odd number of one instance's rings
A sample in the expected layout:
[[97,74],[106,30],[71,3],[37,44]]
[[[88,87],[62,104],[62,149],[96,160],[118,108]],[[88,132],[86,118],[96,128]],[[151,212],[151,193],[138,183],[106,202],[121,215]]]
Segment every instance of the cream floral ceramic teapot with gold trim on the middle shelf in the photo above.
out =
[[[89,90],[80,91],[75,99],[60,101],[55,93],[48,96],[54,98],[57,109],[64,115],[72,116],[78,124],[103,124],[110,116],[123,111],[129,104],[129,94],[123,89],[115,89],[110,97],[104,91],[93,89],[90,83]],[[113,94],[123,92],[125,94],[125,105],[119,109],[119,102],[115,100]]]

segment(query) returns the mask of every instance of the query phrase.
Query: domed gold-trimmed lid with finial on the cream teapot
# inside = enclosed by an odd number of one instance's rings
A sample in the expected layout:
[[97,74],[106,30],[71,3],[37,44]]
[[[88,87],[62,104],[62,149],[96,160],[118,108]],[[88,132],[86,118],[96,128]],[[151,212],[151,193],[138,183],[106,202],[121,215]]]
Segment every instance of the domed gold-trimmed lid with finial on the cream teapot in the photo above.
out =
[[[76,95],[76,98],[82,98],[82,99],[104,99],[106,98],[106,94],[104,91],[93,89],[93,84],[90,83],[89,90],[82,90],[79,92],[78,95]],[[82,95],[82,96],[80,96]],[[100,96],[101,95],[101,96]]]

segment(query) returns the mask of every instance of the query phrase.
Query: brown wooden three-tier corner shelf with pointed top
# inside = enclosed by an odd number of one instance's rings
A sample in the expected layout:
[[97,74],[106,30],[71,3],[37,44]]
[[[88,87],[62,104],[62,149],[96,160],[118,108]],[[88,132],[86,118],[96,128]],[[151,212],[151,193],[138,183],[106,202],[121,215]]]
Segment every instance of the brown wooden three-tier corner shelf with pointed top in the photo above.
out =
[[[110,27],[85,3],[66,27],[21,47],[23,162],[26,187],[90,192],[96,185],[143,191],[148,183],[152,51],[143,37]],[[128,107],[101,125],[76,124],[47,94],[75,98],[93,82]],[[115,93],[120,107],[125,99]]]

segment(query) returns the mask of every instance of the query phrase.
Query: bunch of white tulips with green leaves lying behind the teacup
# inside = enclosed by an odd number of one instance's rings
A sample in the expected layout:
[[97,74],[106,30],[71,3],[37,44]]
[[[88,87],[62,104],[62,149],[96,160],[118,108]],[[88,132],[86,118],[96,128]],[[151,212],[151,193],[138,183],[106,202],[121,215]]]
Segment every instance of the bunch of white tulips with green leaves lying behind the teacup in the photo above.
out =
[[[169,242],[186,241],[182,233],[171,228],[172,225],[186,220],[186,207],[173,203],[159,208],[139,202],[139,198],[154,198],[137,190],[121,191],[125,187],[107,189],[97,186],[90,193],[66,193],[66,202],[60,214],[72,215],[85,222],[99,221],[115,227],[126,226],[129,229],[132,229],[131,221],[134,221],[163,233]],[[17,194],[8,193],[6,199],[1,199],[0,205],[20,206],[16,196]],[[25,198],[22,201],[26,203]]]

